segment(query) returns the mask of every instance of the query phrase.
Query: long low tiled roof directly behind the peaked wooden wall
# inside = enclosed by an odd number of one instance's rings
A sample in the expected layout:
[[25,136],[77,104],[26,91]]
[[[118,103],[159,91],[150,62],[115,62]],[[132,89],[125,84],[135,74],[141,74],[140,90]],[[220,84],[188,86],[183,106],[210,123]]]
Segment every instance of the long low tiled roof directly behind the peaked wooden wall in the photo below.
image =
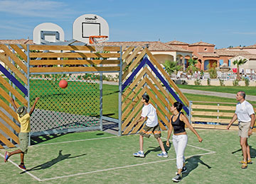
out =
[[181,47],[174,45],[167,45],[164,42],[105,42],[105,45],[118,45],[123,47],[129,46],[143,46],[149,45],[150,51],[175,51],[175,52],[192,52],[190,50],[184,50]]

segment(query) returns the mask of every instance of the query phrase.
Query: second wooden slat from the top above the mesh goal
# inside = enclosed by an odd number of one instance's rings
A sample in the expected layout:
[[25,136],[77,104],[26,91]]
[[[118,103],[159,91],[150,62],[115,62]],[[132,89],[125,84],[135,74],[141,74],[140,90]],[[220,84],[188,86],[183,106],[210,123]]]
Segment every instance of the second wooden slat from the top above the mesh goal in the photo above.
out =
[[29,57],[120,57],[119,53],[84,53],[84,52],[70,52],[70,53],[51,53],[51,52],[31,52]]

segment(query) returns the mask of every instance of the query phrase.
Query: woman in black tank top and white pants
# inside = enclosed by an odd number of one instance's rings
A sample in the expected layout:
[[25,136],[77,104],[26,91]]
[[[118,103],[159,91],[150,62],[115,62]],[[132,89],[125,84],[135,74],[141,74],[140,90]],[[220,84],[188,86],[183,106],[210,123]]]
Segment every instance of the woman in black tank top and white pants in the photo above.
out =
[[202,142],[203,139],[200,137],[198,132],[189,123],[188,118],[184,115],[182,110],[183,104],[180,102],[174,103],[171,106],[171,113],[173,114],[169,121],[169,130],[167,135],[166,146],[170,146],[169,139],[171,132],[174,130],[173,144],[176,152],[176,165],[178,168],[177,175],[172,180],[178,182],[181,180],[181,173],[186,172],[184,151],[188,142],[188,136],[186,134],[185,125],[198,137],[198,141]]

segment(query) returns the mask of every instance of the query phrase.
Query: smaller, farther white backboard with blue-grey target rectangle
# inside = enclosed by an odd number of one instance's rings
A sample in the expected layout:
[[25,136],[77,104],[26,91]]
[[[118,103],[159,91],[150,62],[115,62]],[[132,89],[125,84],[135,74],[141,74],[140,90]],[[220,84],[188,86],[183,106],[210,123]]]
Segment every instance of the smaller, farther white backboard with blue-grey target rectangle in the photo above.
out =
[[41,23],[33,30],[33,42],[41,44],[43,41],[64,42],[64,31],[55,23]]

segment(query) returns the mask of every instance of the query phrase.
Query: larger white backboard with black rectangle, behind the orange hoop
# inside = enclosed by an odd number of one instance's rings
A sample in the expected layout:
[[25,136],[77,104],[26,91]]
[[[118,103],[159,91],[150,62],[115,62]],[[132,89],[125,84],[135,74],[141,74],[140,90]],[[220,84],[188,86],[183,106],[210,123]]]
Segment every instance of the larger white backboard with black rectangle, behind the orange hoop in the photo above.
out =
[[73,39],[80,42],[89,43],[90,36],[107,36],[110,38],[109,26],[104,18],[95,14],[85,14],[73,23]]

